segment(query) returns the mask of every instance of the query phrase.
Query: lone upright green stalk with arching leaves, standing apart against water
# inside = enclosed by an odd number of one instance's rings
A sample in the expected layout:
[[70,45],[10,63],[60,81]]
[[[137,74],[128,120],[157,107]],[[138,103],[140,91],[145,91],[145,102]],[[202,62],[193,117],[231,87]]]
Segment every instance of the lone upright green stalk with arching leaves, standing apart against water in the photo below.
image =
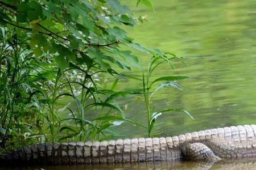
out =
[[[168,57],[171,56],[171,57]],[[175,75],[175,76],[162,76],[159,78],[156,78],[155,80],[150,80],[152,73],[156,68],[159,66],[163,65],[164,63],[167,63],[170,68],[174,69],[174,66],[172,65],[172,59],[177,58],[174,54],[171,53],[164,53],[163,55],[156,55],[152,57],[150,63],[147,65],[147,70],[146,74],[143,71],[143,94],[144,94],[144,101],[146,104],[147,108],[147,130],[148,130],[148,137],[150,137],[152,129],[154,128],[156,118],[158,118],[163,112],[171,112],[171,111],[179,111],[179,112],[184,112],[188,114],[189,117],[193,119],[191,114],[189,112],[184,111],[183,109],[175,109],[175,108],[168,108],[168,109],[163,109],[161,111],[154,111],[154,107],[152,106],[152,97],[154,94],[162,89],[163,87],[175,87],[179,90],[182,91],[182,88],[179,84],[177,84],[176,80],[183,80],[187,79],[187,76],[180,76],[180,75]],[[156,83],[167,81],[164,83],[161,83],[158,87],[155,88],[155,90],[152,91],[152,88],[155,86]]]

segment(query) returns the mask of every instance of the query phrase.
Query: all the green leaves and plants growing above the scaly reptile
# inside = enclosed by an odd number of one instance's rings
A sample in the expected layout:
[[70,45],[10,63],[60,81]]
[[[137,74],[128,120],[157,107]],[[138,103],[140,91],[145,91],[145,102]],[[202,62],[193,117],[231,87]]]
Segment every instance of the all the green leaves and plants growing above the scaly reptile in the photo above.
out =
[[[151,8],[150,1],[141,0]],[[113,126],[127,121],[148,129],[162,112],[154,111],[151,97],[162,87],[186,76],[152,80],[154,69],[174,54],[150,49],[134,41],[122,27],[143,22],[117,0],[0,1],[0,144],[13,148],[45,141],[105,140],[119,135]],[[122,74],[138,67],[131,51],[152,55],[142,79]],[[98,79],[113,76],[113,86]],[[115,91],[119,76],[137,79],[141,89]],[[156,83],[168,81],[156,87]],[[100,81],[101,82],[101,81]],[[152,91],[152,88],[155,90]],[[147,126],[126,118],[117,97],[144,96]],[[93,119],[86,113],[93,112]],[[185,112],[185,111],[183,111]],[[185,112],[188,113],[188,112]],[[189,114],[189,113],[188,113]]]

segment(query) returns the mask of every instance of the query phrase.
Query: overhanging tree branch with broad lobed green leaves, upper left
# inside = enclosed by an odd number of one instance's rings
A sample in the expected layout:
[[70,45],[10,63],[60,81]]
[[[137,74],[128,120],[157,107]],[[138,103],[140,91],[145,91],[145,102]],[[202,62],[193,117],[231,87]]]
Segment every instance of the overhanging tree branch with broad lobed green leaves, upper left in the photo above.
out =
[[[144,1],[142,1],[144,2]],[[109,1],[0,1],[1,25],[30,35],[35,56],[47,53],[61,70],[86,65],[114,74],[113,64],[130,69],[138,61],[119,45],[155,54],[127,36],[122,25],[134,26],[131,11]]]

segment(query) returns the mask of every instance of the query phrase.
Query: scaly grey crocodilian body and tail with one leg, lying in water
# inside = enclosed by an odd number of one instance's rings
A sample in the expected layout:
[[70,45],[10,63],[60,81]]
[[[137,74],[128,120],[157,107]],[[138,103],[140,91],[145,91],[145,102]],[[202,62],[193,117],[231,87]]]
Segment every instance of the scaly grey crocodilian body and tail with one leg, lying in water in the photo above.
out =
[[200,130],[174,137],[47,142],[0,156],[0,164],[96,164],[256,158],[256,125]]

